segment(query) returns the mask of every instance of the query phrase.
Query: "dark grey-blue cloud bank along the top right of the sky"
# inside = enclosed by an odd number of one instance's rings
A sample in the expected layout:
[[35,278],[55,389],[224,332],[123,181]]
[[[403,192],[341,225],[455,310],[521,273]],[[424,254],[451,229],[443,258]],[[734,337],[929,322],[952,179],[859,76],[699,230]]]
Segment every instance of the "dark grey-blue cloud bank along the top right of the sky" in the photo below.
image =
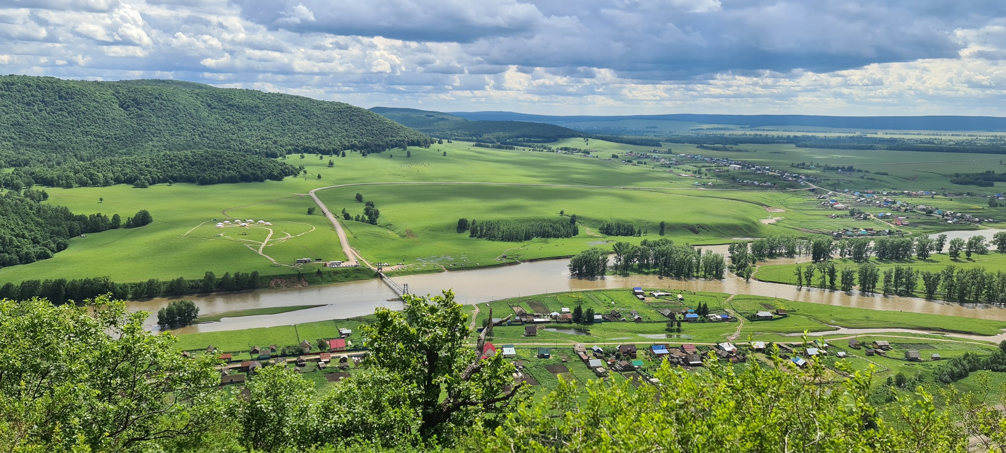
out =
[[458,42],[473,62],[667,78],[954,57],[955,29],[1006,14],[991,0],[232,1],[276,29]]

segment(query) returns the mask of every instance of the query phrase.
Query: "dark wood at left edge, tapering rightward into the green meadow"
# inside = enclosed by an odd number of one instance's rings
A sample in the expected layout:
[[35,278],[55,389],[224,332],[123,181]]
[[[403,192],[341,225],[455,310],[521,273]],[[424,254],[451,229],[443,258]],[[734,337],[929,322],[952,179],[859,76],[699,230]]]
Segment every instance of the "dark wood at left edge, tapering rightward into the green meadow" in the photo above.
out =
[[42,203],[45,190],[10,190],[0,196],[0,268],[33,263],[52,258],[69,246],[69,239],[122,226],[143,226],[153,221],[150,212],[141,209],[122,221],[101,212],[74,214],[65,206]]

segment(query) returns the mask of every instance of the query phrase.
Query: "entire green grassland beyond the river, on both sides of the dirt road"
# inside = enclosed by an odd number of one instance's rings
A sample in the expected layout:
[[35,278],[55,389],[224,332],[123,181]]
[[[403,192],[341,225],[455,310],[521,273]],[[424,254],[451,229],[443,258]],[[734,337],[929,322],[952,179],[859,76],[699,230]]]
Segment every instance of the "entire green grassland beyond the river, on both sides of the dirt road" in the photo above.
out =
[[[582,140],[557,142],[555,146],[583,147]],[[123,217],[148,209],[154,222],[140,229],[119,230],[88,235],[71,240],[70,247],[49,260],[30,265],[0,269],[0,281],[64,278],[73,276],[109,276],[119,282],[150,278],[162,280],[200,278],[206,271],[221,276],[224,272],[259,271],[264,276],[298,272],[297,258],[345,260],[331,225],[319,213],[308,215],[313,207],[309,190],[327,185],[370,184],[374,182],[502,182],[530,184],[597,184],[613,187],[666,187],[666,189],[588,189],[533,186],[377,186],[360,185],[319,192],[336,212],[346,207],[352,213],[362,206],[351,201],[357,191],[373,199],[381,209],[378,226],[349,223],[354,238],[351,244],[375,261],[409,262],[406,272],[431,272],[423,263],[496,264],[495,258],[513,249],[521,258],[572,255],[611,239],[592,229],[608,219],[624,219],[640,225],[671,223],[668,237],[692,244],[728,242],[733,238],[765,235],[803,235],[802,230],[828,231],[864,224],[844,218],[828,218],[833,213],[815,205],[802,191],[768,192],[750,190],[673,190],[692,189],[694,177],[681,176],[701,168],[702,161],[685,162],[674,168],[651,165],[626,165],[620,162],[626,152],[650,152],[649,147],[592,140],[590,148],[599,150],[596,157],[578,154],[533,152],[527,150],[492,150],[456,142],[433,145],[429,149],[410,148],[410,158],[401,150],[361,157],[292,155],[288,162],[303,165],[307,174],[284,181],[261,183],[158,184],[146,189],[127,185],[73,189],[46,188],[49,202],[62,204],[77,213],[119,213]],[[746,147],[746,146],[745,146]],[[691,145],[673,145],[660,151],[701,153],[732,157],[786,167],[790,162],[814,160],[857,166],[885,168],[890,176],[858,174],[843,181],[838,188],[865,189],[938,189],[948,171],[987,169],[988,155],[874,152],[852,150],[798,149],[789,145],[751,146],[753,153],[723,153],[697,150]],[[447,155],[444,155],[444,153]],[[611,154],[620,157],[611,158]],[[328,161],[333,166],[328,167]],[[985,159],[985,160],[979,160]],[[942,162],[952,160],[953,162]],[[890,167],[890,168],[887,168]],[[939,172],[934,172],[939,168]],[[687,173],[685,173],[687,174]],[[708,173],[704,173],[708,174]],[[874,180],[859,178],[869,176]],[[707,188],[737,187],[713,175]],[[832,178],[835,175],[822,175]],[[828,181],[826,181],[828,182]],[[854,183],[854,184],[853,184]],[[825,184],[825,186],[828,186]],[[748,187],[749,188],[749,187]],[[829,187],[830,188],[830,187]],[[981,192],[977,187],[966,189]],[[104,198],[104,202],[99,202]],[[980,199],[946,199],[945,208],[981,211]],[[957,204],[955,204],[957,203]],[[938,204],[940,205],[940,204]],[[785,209],[775,212],[775,223],[764,224],[769,212],[764,208]],[[579,237],[568,240],[532,241],[521,244],[490,243],[469,240],[454,233],[458,217],[523,218],[555,216],[559,210],[576,213],[584,222]],[[868,209],[869,210],[869,209]],[[1006,208],[1003,208],[1006,211]],[[968,210],[966,210],[968,211]],[[985,214],[983,213],[983,216]],[[267,220],[273,235],[263,228],[215,229],[224,219]],[[215,220],[214,220],[215,219]],[[870,222],[874,228],[878,222]],[[925,224],[921,225],[925,230]],[[936,225],[930,225],[936,228]],[[946,226],[944,226],[946,228]],[[697,232],[697,233],[693,233]],[[650,238],[656,231],[650,229]],[[266,239],[269,238],[267,242]],[[263,244],[263,243],[266,244]],[[450,258],[445,258],[450,257]],[[466,258],[461,258],[466,257]],[[420,261],[420,260],[426,261]],[[438,261],[439,260],[439,261]],[[453,262],[451,260],[454,260]],[[465,262],[464,260],[468,260]],[[473,261],[474,260],[474,261]],[[487,263],[488,262],[488,263]],[[305,268],[313,271],[315,264]]]

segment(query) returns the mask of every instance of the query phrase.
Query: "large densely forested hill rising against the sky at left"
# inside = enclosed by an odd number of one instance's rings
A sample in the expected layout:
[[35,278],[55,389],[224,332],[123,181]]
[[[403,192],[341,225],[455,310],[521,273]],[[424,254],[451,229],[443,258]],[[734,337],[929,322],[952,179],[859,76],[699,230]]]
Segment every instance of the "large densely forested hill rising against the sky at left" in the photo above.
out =
[[337,102],[175,81],[0,77],[0,159],[8,164],[23,164],[31,152],[82,161],[195,149],[276,157],[403,142],[429,138]]

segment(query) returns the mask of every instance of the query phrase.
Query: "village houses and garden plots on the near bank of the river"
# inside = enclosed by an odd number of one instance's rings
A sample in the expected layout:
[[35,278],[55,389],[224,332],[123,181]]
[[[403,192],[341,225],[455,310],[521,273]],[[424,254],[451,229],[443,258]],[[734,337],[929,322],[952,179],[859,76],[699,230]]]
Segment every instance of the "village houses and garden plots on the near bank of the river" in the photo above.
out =
[[[542,392],[551,388],[559,376],[578,381],[628,380],[637,387],[658,384],[654,372],[665,362],[683,369],[696,369],[708,364],[708,360],[737,365],[745,365],[754,360],[762,365],[775,365],[778,357],[784,366],[799,372],[817,360],[826,368],[830,379],[838,380],[847,375],[847,371],[837,366],[839,360],[852,360],[857,367],[872,363],[878,369],[890,369],[892,366],[889,363],[877,360],[911,363],[942,358],[937,350],[924,356],[920,349],[931,346],[897,344],[882,336],[870,339],[853,336],[841,340],[823,337],[785,340],[778,334],[768,334],[766,339],[750,337],[737,341],[739,338],[736,335],[724,337],[725,334],[715,334],[719,339],[709,341],[709,336],[697,333],[673,333],[681,331],[683,323],[687,332],[716,329],[714,326],[717,325],[726,328],[717,331],[728,332],[736,328],[739,332],[744,322],[767,322],[764,325],[768,327],[773,322],[785,323],[791,316],[792,313],[785,308],[785,304],[764,299],[752,305],[753,302],[731,297],[728,299],[734,299],[737,303],[731,303],[731,308],[727,309],[726,304],[715,303],[710,295],[686,291],[636,287],[597,294],[592,292],[588,295],[599,297],[602,302],[611,299],[616,308],[604,313],[594,313],[593,307],[584,312],[580,306],[573,304],[568,304],[574,307],[572,309],[548,309],[540,299],[508,305],[512,311],[509,316],[500,318],[486,314],[483,318],[484,327],[477,331],[490,328],[490,324],[492,330],[482,350],[477,352],[484,359],[501,355],[503,359],[513,363],[515,381],[526,383],[532,388],[541,386]],[[570,297],[584,299],[580,294]],[[558,301],[556,298],[556,302]],[[636,303],[626,306],[623,301]],[[574,322],[582,327],[561,327]],[[633,331],[629,326],[636,325],[645,327],[646,331],[667,330],[672,333],[644,334],[653,338],[648,341],[620,341],[618,338],[624,338],[624,335],[611,337],[600,331],[593,335],[591,333],[594,332],[589,333],[588,329],[593,330],[601,325],[608,325],[613,331]],[[675,326],[676,330],[672,330],[671,326]],[[765,330],[770,332],[772,329]],[[354,337],[354,344],[350,339],[354,335],[351,328],[340,327],[338,332],[337,338],[320,338],[315,341],[304,339],[297,345],[270,344],[252,346],[240,351],[224,351],[207,345],[204,350],[185,351],[183,354],[217,355],[221,360],[217,366],[220,386],[241,385],[255,379],[258,370],[264,366],[290,366],[323,386],[330,386],[366,367],[365,339],[357,335]],[[572,342],[562,338],[574,338],[573,335],[595,336],[598,341]],[[660,340],[657,339],[658,336],[668,339]]]

